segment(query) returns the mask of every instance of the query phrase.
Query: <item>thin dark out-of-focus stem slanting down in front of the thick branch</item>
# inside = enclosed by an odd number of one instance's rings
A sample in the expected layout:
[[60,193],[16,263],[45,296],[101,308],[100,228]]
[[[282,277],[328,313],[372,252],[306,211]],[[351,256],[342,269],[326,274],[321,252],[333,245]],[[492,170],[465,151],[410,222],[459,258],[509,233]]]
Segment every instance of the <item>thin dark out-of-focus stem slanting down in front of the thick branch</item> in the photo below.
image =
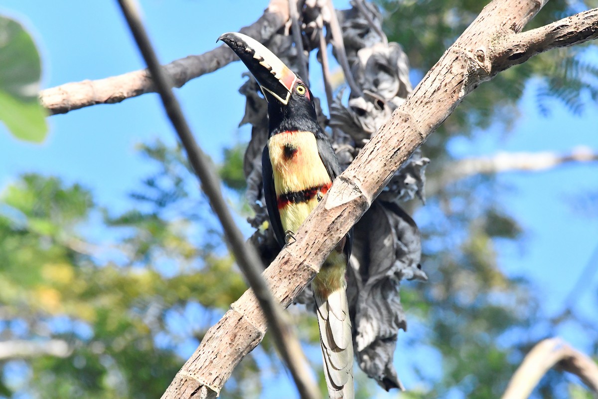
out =
[[[279,350],[281,357],[289,367],[301,396],[304,398],[318,398],[319,391],[311,378],[312,376],[309,373],[309,366],[301,351],[300,344],[292,333],[290,325],[283,320],[283,310],[279,303],[274,301],[266,281],[264,281],[261,276],[263,267],[261,266],[260,258],[254,248],[246,245],[245,239],[243,239],[243,234],[241,234],[234,223],[233,217],[231,216],[230,211],[228,211],[228,207],[222,197],[218,178],[216,178],[216,175],[213,172],[208,157],[203,154],[203,151],[199,148],[193,138],[193,133],[191,133],[187,120],[185,120],[185,117],[182,114],[178,100],[172,93],[172,82],[169,80],[169,76],[162,71],[160,63],[158,63],[158,59],[155,56],[154,49],[145,32],[145,28],[139,18],[138,11],[133,6],[132,2],[133,0],[118,0],[118,4],[120,4],[124,17],[129,24],[129,28],[135,37],[139,51],[141,51],[141,54],[148,65],[148,70],[151,72],[155,88],[160,94],[164,109],[166,109],[166,113],[168,114],[176,133],[178,134],[179,139],[181,139],[185,151],[187,151],[191,166],[193,166],[194,171],[202,182],[203,191],[206,193],[213,211],[218,215],[237,264],[239,264],[243,273],[245,273],[255,296],[260,302],[260,306],[270,325],[270,331],[273,334],[276,348]],[[185,366],[182,368],[183,372]],[[195,383],[196,385],[200,385],[197,382]],[[217,392],[218,391],[216,391],[216,393]]]

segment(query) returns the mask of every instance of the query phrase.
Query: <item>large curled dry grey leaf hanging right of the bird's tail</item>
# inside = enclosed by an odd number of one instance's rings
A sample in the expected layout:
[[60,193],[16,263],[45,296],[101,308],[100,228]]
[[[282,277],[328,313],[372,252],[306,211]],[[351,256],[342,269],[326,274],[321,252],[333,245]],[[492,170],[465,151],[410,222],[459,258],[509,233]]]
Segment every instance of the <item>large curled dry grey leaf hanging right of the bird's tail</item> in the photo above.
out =
[[427,279],[419,230],[398,205],[376,201],[354,231],[347,296],[359,367],[386,390],[401,388],[392,366],[398,330],[407,327],[399,282]]

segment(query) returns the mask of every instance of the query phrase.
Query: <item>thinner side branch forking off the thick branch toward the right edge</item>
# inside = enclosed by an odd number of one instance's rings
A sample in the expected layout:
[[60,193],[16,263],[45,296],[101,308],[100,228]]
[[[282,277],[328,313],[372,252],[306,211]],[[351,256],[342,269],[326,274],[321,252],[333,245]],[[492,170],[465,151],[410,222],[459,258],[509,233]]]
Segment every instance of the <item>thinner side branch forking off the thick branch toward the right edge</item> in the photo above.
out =
[[598,38],[598,8],[584,11],[531,31],[508,35],[496,46],[496,72],[526,62],[547,50]]

